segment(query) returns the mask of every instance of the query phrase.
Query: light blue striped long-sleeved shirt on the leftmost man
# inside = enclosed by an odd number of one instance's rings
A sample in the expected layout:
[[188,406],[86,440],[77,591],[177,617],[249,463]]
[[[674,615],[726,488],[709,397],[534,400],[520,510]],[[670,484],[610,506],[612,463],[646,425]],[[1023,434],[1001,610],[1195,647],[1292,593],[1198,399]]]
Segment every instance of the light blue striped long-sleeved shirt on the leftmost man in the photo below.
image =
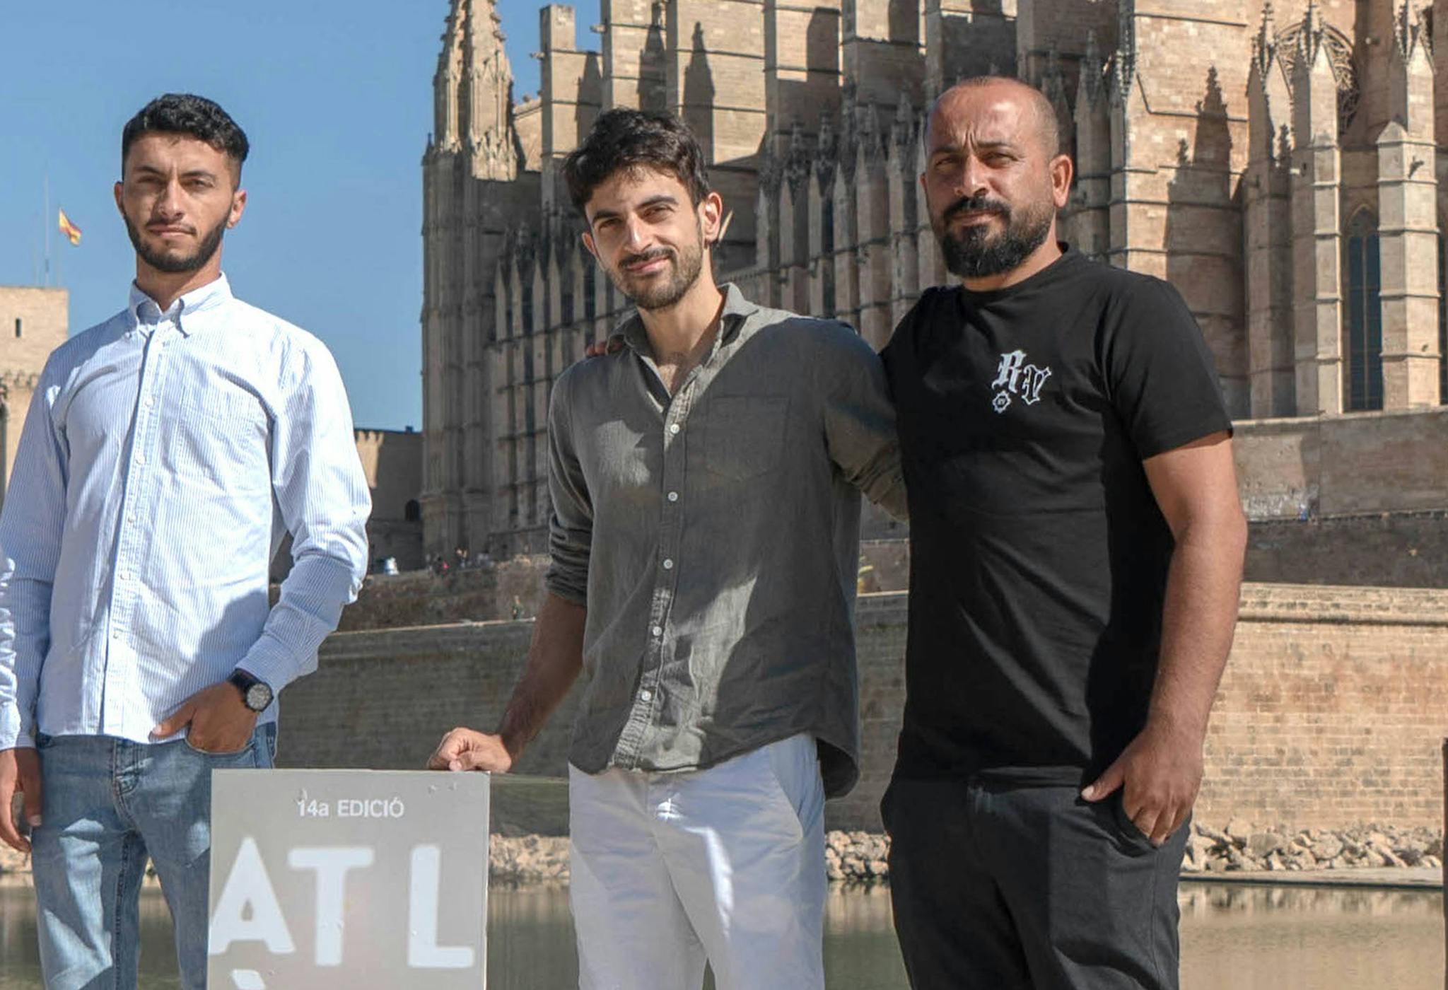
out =
[[36,731],[146,742],[236,667],[277,692],[310,673],[366,572],[369,511],[320,340],[224,276],[165,313],[133,287],[51,355],[20,434],[0,512],[0,750]]

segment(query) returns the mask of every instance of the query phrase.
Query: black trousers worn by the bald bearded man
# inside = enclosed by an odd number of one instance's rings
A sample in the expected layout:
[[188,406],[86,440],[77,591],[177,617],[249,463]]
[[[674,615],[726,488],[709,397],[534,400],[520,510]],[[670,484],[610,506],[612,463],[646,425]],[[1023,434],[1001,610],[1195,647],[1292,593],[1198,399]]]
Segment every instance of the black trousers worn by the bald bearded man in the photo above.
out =
[[891,782],[895,932],[912,990],[1177,990],[1182,826],[1160,848],[1076,787]]

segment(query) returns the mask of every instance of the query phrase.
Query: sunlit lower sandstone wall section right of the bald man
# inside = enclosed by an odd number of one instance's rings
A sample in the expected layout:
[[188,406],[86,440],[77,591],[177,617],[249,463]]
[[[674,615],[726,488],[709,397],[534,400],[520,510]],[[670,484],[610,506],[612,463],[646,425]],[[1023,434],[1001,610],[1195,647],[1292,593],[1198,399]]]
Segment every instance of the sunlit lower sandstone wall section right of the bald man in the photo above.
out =
[[1250,585],[1203,821],[1442,825],[1448,593]]

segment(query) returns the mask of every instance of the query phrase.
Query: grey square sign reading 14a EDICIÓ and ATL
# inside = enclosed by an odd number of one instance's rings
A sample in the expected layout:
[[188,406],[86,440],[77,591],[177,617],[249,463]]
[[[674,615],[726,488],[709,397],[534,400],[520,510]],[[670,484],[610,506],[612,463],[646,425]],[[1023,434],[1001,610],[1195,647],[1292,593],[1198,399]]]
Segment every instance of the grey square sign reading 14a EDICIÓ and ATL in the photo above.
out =
[[488,774],[217,770],[207,986],[484,986]]

